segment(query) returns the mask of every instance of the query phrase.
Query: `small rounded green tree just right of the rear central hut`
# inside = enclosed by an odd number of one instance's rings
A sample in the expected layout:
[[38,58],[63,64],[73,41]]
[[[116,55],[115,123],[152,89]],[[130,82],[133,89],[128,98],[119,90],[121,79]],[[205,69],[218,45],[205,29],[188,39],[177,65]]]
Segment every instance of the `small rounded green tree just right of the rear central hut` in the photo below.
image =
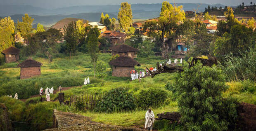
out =
[[154,55],[154,45],[155,43],[150,42],[149,40],[145,40],[144,42],[142,42],[141,44],[139,44],[139,53],[138,55],[141,57],[147,57],[149,58],[149,56]]

